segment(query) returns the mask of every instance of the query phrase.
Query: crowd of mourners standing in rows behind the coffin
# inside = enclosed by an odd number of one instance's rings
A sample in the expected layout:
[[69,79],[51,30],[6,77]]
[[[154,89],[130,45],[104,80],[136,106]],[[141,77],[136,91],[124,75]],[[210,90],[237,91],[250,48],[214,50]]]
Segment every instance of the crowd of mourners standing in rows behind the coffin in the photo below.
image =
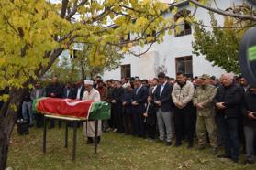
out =
[[[224,154],[217,156],[238,162],[244,148],[245,163],[255,162],[256,89],[243,77],[229,73],[219,80],[206,74],[188,79],[184,73],[177,73],[174,80],[162,72],[151,80],[134,77],[104,82],[98,76],[85,86],[79,80],[64,87],[53,78],[45,89],[37,83],[25,95],[22,115],[28,119],[29,113],[32,126],[32,100],[42,96],[82,100],[84,91],[90,94],[91,90],[99,93],[101,101],[111,103],[111,119],[102,122],[104,132],[126,133],[167,146],[187,143],[187,148],[194,146],[196,136],[200,150],[209,143],[212,154],[217,154],[219,146],[224,146]],[[36,115],[39,127],[43,120]],[[50,122],[50,128],[54,126]],[[88,143],[92,140],[88,138]]]

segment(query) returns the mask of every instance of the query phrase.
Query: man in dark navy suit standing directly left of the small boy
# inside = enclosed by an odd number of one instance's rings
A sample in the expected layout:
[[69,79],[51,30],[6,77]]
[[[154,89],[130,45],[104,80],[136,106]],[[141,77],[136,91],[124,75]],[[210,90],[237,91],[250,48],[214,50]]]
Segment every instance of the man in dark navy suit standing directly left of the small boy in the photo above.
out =
[[143,113],[144,113],[144,104],[147,101],[148,90],[142,85],[139,77],[135,78],[136,88],[133,90],[132,96],[132,114],[133,122],[135,125],[135,133],[139,137],[145,137],[144,125],[143,125]]

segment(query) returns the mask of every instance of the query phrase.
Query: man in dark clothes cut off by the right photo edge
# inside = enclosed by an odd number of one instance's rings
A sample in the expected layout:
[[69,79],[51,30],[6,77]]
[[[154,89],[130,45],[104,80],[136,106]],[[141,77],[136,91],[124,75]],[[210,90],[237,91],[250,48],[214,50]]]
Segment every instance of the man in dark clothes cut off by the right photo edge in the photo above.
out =
[[246,164],[255,162],[254,145],[256,143],[256,88],[250,88],[244,97],[243,102],[243,115],[244,115],[244,134],[246,142]]

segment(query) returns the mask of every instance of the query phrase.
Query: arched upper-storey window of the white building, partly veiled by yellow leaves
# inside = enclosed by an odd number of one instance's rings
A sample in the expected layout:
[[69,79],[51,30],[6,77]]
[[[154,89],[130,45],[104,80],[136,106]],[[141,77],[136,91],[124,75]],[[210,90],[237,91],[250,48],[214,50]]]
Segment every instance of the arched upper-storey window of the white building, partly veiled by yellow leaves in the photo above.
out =
[[[174,16],[174,21],[176,22],[179,18],[183,17],[185,19],[186,16],[190,15],[190,11],[188,10],[182,10],[179,11],[175,16]],[[180,37],[180,36],[185,36],[185,35],[190,35],[191,34],[191,26],[187,21],[183,21],[179,23],[177,26],[178,31],[175,29],[174,35],[175,37]]]

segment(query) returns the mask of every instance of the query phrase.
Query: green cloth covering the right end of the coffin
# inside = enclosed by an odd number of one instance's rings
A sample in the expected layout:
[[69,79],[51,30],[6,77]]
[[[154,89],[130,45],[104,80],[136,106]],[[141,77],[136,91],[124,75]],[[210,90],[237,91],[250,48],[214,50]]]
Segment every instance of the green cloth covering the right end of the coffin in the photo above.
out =
[[90,109],[89,120],[108,120],[110,119],[111,107],[105,101],[94,102]]

